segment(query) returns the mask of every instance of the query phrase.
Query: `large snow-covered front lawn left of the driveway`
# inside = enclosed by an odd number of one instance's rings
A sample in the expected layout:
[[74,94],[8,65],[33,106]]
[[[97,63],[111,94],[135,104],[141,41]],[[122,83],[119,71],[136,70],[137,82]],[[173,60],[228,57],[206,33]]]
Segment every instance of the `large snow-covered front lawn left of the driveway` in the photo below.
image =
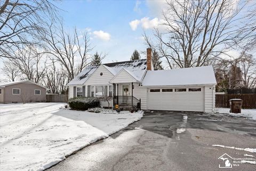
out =
[[60,109],[64,105],[0,104],[0,170],[44,170],[142,117]]

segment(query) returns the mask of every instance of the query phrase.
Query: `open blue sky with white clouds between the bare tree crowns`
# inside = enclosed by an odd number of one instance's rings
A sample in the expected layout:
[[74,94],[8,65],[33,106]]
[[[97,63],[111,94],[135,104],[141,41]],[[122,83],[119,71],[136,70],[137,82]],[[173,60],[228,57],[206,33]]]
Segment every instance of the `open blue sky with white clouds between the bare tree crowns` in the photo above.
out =
[[[58,6],[66,29],[89,31],[94,51],[106,52],[103,63],[129,60],[137,49],[146,51],[141,36],[143,29],[149,34],[159,17],[161,1],[62,1]],[[157,9],[158,8],[158,9]],[[143,19],[143,26],[141,19]],[[130,22],[141,22],[132,30]],[[156,21],[156,19],[154,20]],[[134,26],[135,27],[135,26]],[[94,52],[93,52],[94,53]],[[142,58],[145,55],[141,54]]]

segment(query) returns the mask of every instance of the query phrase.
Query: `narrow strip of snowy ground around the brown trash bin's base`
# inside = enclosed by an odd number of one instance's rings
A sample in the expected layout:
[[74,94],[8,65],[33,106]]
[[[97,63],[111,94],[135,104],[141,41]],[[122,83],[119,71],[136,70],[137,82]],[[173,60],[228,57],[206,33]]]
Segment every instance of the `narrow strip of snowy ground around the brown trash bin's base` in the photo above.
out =
[[227,113],[231,116],[236,117],[250,117],[254,120],[256,120],[256,109],[242,109],[241,113],[229,113],[229,108],[216,108],[216,112],[218,113]]

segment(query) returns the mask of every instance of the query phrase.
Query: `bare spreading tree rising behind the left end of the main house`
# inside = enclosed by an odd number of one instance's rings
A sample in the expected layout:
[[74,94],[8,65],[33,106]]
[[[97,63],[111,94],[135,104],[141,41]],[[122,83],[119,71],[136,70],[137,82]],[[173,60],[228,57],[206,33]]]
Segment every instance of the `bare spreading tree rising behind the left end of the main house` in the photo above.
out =
[[63,24],[59,28],[49,26],[49,33],[42,37],[47,53],[58,61],[67,71],[68,80],[72,80],[86,66],[91,64],[89,54],[93,47],[87,32],[78,35],[75,29],[72,34],[65,32]]

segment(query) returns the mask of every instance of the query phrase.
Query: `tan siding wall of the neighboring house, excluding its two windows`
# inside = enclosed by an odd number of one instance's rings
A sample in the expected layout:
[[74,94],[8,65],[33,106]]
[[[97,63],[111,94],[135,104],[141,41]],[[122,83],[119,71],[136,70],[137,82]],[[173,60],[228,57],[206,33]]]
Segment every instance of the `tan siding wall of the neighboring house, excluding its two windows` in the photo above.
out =
[[[19,88],[20,94],[13,95],[13,88]],[[35,89],[40,89],[41,95],[35,95]],[[6,86],[4,88],[4,94],[4,103],[46,101],[46,88],[43,88],[33,83],[19,83]]]

